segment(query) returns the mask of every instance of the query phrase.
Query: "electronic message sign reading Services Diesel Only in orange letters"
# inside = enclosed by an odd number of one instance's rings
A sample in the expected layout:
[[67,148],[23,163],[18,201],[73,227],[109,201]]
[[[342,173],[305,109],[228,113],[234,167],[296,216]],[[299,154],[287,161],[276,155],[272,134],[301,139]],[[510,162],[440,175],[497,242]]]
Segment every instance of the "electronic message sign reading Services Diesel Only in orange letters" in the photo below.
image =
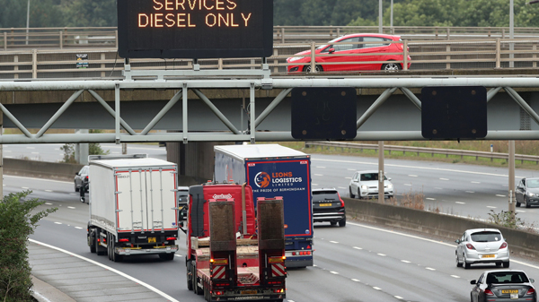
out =
[[273,0],[118,0],[124,58],[266,57]]

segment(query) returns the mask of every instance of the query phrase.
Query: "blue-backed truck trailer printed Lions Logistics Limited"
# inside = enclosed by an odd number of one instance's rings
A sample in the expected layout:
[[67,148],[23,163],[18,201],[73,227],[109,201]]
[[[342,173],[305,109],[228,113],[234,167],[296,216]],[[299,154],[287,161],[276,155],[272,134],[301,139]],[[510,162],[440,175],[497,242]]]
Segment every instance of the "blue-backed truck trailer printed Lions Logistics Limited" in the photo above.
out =
[[252,186],[259,197],[283,196],[287,267],[313,265],[311,159],[278,144],[215,146],[215,180]]

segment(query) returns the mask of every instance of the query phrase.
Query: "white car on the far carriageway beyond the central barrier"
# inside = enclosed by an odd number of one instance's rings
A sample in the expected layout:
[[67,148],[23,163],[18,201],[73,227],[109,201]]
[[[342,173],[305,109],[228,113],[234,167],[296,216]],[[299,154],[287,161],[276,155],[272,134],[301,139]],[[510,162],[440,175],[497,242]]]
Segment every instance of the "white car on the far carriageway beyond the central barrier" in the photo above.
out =
[[[351,198],[378,198],[378,171],[358,171],[349,184]],[[393,197],[391,178],[384,176],[384,196]]]

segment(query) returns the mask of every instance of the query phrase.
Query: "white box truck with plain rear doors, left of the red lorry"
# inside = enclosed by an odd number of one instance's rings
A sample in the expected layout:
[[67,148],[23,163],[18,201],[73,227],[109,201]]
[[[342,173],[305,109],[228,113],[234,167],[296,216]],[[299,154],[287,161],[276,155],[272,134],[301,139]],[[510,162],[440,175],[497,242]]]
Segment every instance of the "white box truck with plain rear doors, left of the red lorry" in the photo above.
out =
[[176,164],[146,154],[91,155],[88,246],[119,262],[128,255],[178,251]]

